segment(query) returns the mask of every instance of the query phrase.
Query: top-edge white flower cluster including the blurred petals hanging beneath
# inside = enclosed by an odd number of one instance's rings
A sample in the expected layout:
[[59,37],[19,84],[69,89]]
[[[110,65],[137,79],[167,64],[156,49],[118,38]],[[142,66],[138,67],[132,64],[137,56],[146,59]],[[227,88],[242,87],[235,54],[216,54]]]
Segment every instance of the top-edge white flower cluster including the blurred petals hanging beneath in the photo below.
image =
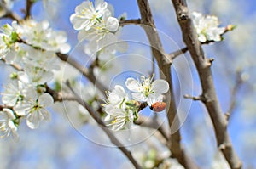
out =
[[79,31],[79,41],[87,40],[84,53],[97,54],[100,60],[108,60],[117,51],[124,51],[124,45],[118,45],[119,20],[113,17],[113,8],[103,0],[84,1],[75,8],[70,16],[73,29]]

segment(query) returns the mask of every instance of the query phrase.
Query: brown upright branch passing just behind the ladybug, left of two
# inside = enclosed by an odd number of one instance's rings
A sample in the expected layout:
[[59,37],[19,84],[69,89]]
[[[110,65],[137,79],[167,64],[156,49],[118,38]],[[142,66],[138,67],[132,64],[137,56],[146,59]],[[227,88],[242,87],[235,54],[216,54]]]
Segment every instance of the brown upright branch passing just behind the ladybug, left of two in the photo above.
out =
[[[163,75],[160,73],[160,77],[161,78],[166,77],[166,81],[169,83],[169,87],[170,87],[169,98],[171,98],[170,108],[167,112],[169,127],[172,128],[172,125],[177,125],[178,127],[179,122],[175,121],[175,119],[177,118],[177,107],[175,104],[173,87],[172,87],[172,73],[170,69],[171,60],[167,58],[164,52],[164,49],[162,47],[162,44],[160,42],[160,37],[154,25],[154,20],[152,17],[148,0],[137,0],[137,4],[138,4],[141,18],[142,18],[141,26],[143,27],[144,31],[147,34],[148,41],[150,42],[150,45],[151,45],[152,54],[157,60],[160,70],[164,74]],[[169,149],[172,152],[172,156],[177,158],[177,161],[179,161],[179,163],[182,164],[185,168],[193,168],[193,169],[198,168],[198,166],[195,165],[194,161],[190,159],[189,155],[187,155],[180,141],[181,141],[181,134],[179,130],[177,130],[177,132],[173,133],[172,135],[171,135],[171,132],[169,133],[168,144],[169,144]]]

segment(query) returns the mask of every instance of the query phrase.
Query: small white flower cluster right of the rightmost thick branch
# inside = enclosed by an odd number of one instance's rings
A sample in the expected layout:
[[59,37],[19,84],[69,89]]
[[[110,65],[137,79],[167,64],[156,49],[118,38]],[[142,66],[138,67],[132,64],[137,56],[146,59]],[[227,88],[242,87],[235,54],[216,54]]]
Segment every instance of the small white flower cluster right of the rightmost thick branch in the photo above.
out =
[[218,27],[218,17],[193,12],[192,20],[195,26],[196,33],[200,42],[221,41],[222,34],[225,31],[224,27]]

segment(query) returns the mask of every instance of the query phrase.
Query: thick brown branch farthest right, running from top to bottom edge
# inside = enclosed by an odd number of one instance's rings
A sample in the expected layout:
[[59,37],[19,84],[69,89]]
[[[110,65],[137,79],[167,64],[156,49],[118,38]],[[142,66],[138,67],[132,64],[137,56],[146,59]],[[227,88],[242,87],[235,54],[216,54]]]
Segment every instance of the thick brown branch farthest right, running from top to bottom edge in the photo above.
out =
[[241,160],[233,149],[230,136],[227,132],[227,121],[219,106],[217,94],[212,79],[211,62],[207,59],[198,41],[192,20],[189,18],[189,9],[185,0],[172,0],[177,14],[177,20],[183,32],[183,41],[189,48],[189,53],[195,63],[200,76],[204,104],[211,117],[218,148],[232,169],[241,168]]

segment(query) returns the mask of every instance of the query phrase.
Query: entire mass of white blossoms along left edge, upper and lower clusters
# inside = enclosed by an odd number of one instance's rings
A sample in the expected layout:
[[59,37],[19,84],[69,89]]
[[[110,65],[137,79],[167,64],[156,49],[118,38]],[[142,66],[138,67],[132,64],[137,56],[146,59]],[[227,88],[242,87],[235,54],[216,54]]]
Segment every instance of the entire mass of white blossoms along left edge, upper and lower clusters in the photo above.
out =
[[19,25],[3,25],[0,33],[0,59],[15,65],[16,71],[2,93],[4,107],[0,111],[3,137],[17,138],[20,121],[26,119],[28,127],[37,128],[40,121],[49,121],[46,107],[54,99],[46,91],[46,83],[59,69],[56,52],[67,53],[70,47],[63,31],[53,31],[46,21],[25,20]]

